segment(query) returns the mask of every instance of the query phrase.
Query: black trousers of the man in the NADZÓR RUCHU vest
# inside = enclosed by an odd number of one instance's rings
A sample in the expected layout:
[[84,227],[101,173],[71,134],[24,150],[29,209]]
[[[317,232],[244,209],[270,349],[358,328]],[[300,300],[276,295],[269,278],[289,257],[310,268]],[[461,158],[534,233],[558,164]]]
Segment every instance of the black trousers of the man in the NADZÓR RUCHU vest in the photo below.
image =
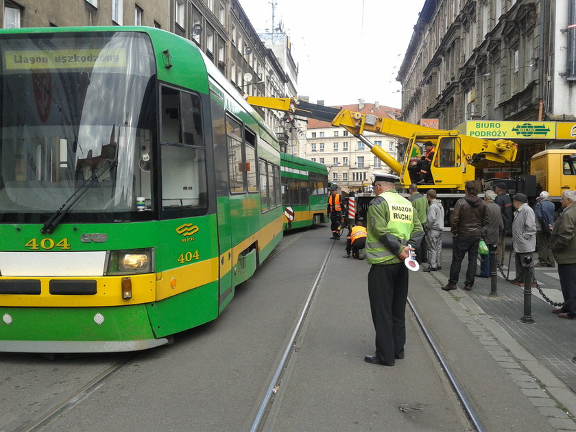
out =
[[384,363],[404,357],[405,309],[408,298],[408,269],[404,263],[377,265],[368,272],[368,297],[376,331],[376,354]]

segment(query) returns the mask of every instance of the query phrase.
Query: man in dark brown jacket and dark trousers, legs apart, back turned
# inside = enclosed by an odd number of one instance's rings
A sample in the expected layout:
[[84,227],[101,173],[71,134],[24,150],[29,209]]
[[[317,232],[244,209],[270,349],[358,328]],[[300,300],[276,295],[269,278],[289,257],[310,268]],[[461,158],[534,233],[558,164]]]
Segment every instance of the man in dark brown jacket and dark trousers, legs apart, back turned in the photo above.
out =
[[467,291],[472,289],[476,275],[476,260],[482,227],[490,222],[485,202],[476,195],[476,183],[468,181],[465,188],[466,196],[456,202],[450,217],[450,230],[454,244],[450,277],[448,284],[442,287],[444,291],[456,289],[462,259],[466,253],[468,253],[468,270],[466,271],[466,280],[464,280],[464,289]]

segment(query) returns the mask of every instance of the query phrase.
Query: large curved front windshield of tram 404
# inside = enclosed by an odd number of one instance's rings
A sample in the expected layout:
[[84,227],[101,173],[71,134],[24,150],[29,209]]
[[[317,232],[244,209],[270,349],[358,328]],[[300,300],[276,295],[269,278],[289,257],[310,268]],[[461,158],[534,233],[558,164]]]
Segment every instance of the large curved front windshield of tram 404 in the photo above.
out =
[[79,189],[67,221],[152,218],[147,35],[3,35],[0,62],[0,220],[43,222]]

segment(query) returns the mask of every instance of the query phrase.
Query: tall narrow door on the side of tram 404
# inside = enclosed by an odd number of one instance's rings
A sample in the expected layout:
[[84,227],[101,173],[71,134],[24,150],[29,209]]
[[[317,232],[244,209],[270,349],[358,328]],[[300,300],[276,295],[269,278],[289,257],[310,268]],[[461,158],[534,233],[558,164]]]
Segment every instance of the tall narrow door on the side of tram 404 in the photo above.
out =
[[230,180],[224,93],[211,90],[214,176],[217,200],[218,313],[232,299],[232,225],[230,223]]

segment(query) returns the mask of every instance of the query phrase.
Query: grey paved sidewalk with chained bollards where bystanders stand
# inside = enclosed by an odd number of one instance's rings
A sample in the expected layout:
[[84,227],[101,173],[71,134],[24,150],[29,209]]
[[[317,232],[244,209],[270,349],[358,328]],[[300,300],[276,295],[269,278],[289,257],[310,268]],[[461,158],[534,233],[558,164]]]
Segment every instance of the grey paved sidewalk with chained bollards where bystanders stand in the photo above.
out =
[[[509,240],[509,239],[507,239]],[[480,324],[503,348],[494,351],[494,359],[503,368],[516,368],[518,365],[517,382],[523,378],[520,375],[532,376],[538,387],[522,388],[536,407],[549,417],[555,429],[575,430],[573,420],[566,418],[565,411],[576,416],[576,364],[572,362],[576,355],[576,320],[562,320],[551,313],[553,307],[545,302],[536,288],[532,289],[531,317],[533,324],[520,322],[524,313],[524,289],[505,282],[498,272],[497,297],[490,297],[490,278],[475,278],[474,289],[465,291],[464,277],[468,257],[464,257],[460,272],[458,289],[442,291],[441,287],[448,282],[448,274],[452,261],[452,239],[449,232],[443,234],[442,270],[424,273],[424,278],[435,290],[444,293],[445,298],[459,304],[459,309],[467,313],[461,319],[469,324],[470,330],[481,331],[476,326]],[[505,255],[505,265],[508,264],[509,245]],[[537,254],[535,254],[537,259]],[[421,266],[420,272],[427,265]],[[509,270],[509,279],[514,278],[514,256]],[[505,273],[508,268],[504,268]],[[542,291],[555,302],[562,301],[562,293],[558,282],[557,269],[536,268],[536,280]],[[457,308],[458,309],[458,308]],[[481,337],[481,336],[479,336]],[[489,344],[488,344],[489,345]],[[512,372],[512,371],[511,371]],[[533,382],[531,384],[534,384]],[[544,390],[544,392],[542,392]],[[554,401],[544,400],[542,396],[550,395]]]

